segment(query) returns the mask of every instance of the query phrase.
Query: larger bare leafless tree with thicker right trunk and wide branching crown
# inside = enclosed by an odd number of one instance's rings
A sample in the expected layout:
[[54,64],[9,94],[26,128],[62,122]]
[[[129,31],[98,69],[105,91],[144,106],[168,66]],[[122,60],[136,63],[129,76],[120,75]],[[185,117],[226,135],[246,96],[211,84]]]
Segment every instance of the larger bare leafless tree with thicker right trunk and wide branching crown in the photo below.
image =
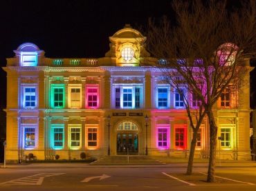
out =
[[[208,182],[214,181],[217,149],[217,123],[212,107],[228,86],[239,88],[245,81],[250,70],[248,60],[256,50],[255,1],[243,3],[237,10],[227,10],[226,6],[226,1],[175,0],[172,7],[176,23],[171,24],[164,17],[159,23],[149,20],[147,28],[147,50],[154,57],[167,60],[165,67],[183,78],[208,117]],[[172,72],[167,76],[172,76]],[[190,117],[190,110],[187,112]],[[192,168],[192,163],[189,165]]]

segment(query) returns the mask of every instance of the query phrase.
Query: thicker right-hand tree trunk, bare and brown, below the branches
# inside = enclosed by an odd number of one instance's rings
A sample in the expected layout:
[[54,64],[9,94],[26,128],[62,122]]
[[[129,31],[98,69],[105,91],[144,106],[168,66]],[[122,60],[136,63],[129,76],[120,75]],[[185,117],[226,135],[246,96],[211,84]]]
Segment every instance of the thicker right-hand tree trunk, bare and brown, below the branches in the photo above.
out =
[[214,120],[214,115],[212,110],[209,110],[208,120],[210,125],[210,159],[208,165],[208,182],[214,182],[214,170],[216,163],[216,146],[217,146],[217,125]]

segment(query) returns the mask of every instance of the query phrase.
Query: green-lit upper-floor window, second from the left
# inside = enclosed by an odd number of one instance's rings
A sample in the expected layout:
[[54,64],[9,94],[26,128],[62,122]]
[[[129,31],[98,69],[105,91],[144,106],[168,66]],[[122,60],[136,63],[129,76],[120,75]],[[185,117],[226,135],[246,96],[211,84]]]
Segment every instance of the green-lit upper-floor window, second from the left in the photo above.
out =
[[52,84],[51,88],[51,106],[52,108],[65,107],[65,89],[64,84]]

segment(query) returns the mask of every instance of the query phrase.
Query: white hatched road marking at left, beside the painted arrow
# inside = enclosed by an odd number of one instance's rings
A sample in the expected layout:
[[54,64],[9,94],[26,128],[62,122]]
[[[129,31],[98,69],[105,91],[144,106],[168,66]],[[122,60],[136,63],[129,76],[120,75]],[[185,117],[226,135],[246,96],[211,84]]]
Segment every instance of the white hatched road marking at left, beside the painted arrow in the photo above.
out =
[[11,181],[6,181],[0,183],[0,186],[10,186],[10,185],[42,185],[44,178],[57,176],[65,173],[39,173],[32,176],[23,177],[20,179],[14,179]]

